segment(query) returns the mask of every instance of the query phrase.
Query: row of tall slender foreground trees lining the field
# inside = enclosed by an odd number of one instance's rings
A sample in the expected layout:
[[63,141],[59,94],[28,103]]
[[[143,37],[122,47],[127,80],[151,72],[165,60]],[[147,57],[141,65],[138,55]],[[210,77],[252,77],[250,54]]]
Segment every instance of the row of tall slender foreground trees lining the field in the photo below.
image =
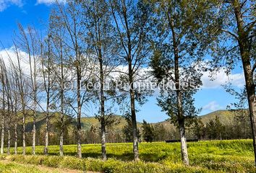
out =
[[[54,131],[59,134],[60,156],[67,140],[68,115],[76,118],[73,138],[77,156],[82,157],[81,144],[94,130],[85,139],[81,117],[90,112],[88,105],[93,105],[101,124],[102,159],[107,159],[106,129],[116,123],[113,114],[119,107],[127,117],[124,133],[129,133],[134,158],[139,160],[141,132],[136,112],[157,90],[158,105],[176,126],[182,160],[188,165],[187,123],[200,112],[193,96],[202,86],[202,73],[214,74],[224,68],[230,74],[235,66],[243,67],[246,85],[242,103],[249,106],[256,148],[254,6],[254,1],[239,0],[56,1],[46,30],[19,24],[13,47],[6,51],[9,58],[0,60],[1,154],[4,141],[9,153],[11,138],[15,154],[18,143],[22,143],[22,154],[26,154],[27,144],[35,154],[36,111],[42,110],[46,120],[40,132],[44,154],[48,154],[52,137],[51,117],[58,112]],[[238,95],[234,89],[226,90]],[[28,119],[32,122],[29,135]],[[215,120],[205,126],[216,128],[217,136],[208,130],[208,138],[224,137],[217,124]],[[150,130],[146,123],[144,128],[144,133]],[[150,136],[145,133],[145,138]]]

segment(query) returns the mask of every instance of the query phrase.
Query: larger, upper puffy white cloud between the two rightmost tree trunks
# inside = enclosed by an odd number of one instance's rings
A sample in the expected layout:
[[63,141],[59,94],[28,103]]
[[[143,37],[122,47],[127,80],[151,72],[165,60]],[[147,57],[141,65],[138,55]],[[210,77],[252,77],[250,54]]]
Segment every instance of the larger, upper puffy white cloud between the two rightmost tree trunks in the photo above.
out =
[[227,75],[224,69],[221,69],[213,77],[214,80],[210,80],[210,73],[205,72],[202,75],[202,89],[216,89],[221,88],[222,85],[231,83],[232,86],[243,87],[244,86],[244,74],[229,74]]

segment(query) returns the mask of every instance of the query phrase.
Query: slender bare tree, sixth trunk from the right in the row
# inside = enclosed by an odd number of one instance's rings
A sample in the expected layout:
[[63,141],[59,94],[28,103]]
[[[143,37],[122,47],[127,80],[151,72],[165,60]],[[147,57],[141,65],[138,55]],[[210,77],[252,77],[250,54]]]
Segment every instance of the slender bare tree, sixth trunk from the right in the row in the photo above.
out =
[[[60,6],[59,6],[60,7]],[[65,97],[64,84],[71,79],[72,70],[69,68],[69,46],[65,37],[67,30],[64,25],[64,21],[59,15],[59,8],[51,12],[51,20],[49,24],[49,35],[51,36],[51,43],[53,45],[53,56],[54,56],[54,68],[51,71],[55,74],[56,85],[58,91],[56,91],[56,98],[60,105],[60,135],[59,135],[59,154],[64,156],[63,145],[64,145],[64,128],[65,128],[65,115],[66,110],[69,110]]]

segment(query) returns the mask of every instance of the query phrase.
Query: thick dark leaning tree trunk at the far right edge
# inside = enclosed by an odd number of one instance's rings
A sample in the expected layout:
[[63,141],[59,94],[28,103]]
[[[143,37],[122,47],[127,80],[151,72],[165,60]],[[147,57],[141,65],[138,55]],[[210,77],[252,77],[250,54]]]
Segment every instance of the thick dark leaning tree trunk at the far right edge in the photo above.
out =
[[255,97],[255,81],[253,79],[252,65],[249,57],[249,35],[244,30],[244,19],[242,15],[241,4],[239,1],[233,1],[234,14],[236,16],[236,25],[238,33],[238,43],[240,49],[240,55],[242,58],[242,65],[244,68],[245,86],[247,89],[247,100],[249,105],[249,116],[252,128],[253,148],[255,154],[255,166],[256,166],[256,97]]

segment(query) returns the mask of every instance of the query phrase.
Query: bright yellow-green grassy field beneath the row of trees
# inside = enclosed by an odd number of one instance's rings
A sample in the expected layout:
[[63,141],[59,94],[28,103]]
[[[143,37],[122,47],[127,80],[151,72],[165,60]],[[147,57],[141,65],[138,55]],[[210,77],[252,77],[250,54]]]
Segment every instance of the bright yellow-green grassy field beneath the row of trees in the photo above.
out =
[[[140,143],[139,162],[132,161],[132,143],[109,143],[107,153],[110,159],[105,162],[100,159],[100,144],[83,145],[85,159],[74,157],[76,147],[64,146],[66,156],[63,158],[57,156],[59,146],[49,146],[49,155],[52,156],[12,155],[1,159],[95,172],[256,172],[251,140],[188,143],[189,167],[182,165],[179,143]],[[21,154],[22,148],[18,151]],[[37,146],[36,152],[43,154],[43,146]],[[27,147],[27,154],[31,154],[31,147]]]

